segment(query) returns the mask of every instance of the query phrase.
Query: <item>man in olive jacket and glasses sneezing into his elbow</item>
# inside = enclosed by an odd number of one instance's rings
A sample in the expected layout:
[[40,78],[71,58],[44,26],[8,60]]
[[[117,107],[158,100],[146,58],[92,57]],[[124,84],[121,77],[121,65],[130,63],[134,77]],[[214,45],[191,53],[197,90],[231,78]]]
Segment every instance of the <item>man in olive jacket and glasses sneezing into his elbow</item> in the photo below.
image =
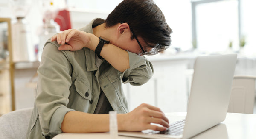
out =
[[38,68],[27,138],[107,132],[113,110],[119,131],[166,130],[169,122],[159,108],[142,104],[128,111],[122,82],[142,85],[151,78],[152,64],[143,55],[168,48],[170,33],[152,0],[124,0],[106,20],[53,36]]

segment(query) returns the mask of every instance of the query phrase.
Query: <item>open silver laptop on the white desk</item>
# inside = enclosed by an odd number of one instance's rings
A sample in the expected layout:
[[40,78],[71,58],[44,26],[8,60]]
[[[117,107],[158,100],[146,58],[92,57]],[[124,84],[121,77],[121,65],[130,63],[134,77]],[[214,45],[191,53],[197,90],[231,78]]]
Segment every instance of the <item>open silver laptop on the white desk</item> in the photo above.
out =
[[[180,134],[145,130],[119,132],[119,136],[147,139],[188,139],[224,121],[230,100],[237,54],[199,56],[195,59],[194,75],[188,100],[186,120]],[[175,122],[175,123],[177,123]],[[170,124],[171,126],[171,124]]]

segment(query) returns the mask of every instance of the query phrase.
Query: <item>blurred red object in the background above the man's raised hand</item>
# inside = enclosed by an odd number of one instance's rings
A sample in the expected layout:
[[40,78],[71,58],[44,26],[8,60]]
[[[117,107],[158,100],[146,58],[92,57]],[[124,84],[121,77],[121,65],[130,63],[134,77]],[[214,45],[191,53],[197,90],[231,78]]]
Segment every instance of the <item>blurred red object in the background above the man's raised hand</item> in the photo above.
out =
[[54,21],[60,25],[61,31],[71,28],[70,13],[67,10],[59,11]]

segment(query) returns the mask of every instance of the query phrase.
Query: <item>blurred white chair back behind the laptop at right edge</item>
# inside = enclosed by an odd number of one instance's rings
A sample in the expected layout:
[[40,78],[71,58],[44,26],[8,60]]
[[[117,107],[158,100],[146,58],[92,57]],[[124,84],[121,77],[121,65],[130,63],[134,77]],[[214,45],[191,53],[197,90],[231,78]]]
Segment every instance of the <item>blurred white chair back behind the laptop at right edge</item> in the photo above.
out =
[[227,112],[253,114],[255,79],[251,75],[235,75]]

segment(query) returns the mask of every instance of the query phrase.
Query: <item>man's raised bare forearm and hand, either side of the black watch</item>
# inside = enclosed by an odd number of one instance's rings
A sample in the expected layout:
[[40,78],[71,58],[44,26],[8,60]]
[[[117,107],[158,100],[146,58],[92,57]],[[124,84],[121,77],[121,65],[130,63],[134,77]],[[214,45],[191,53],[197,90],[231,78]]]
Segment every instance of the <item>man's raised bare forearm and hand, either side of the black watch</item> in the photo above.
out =
[[[83,47],[95,51],[99,44],[99,38],[94,34],[76,29],[69,29],[62,33],[58,33],[57,35],[52,36],[51,41],[57,41],[58,44],[61,44],[58,48],[59,50],[72,51],[80,50]],[[104,44],[100,55],[120,72],[124,72],[130,67],[128,52],[113,44]]]

